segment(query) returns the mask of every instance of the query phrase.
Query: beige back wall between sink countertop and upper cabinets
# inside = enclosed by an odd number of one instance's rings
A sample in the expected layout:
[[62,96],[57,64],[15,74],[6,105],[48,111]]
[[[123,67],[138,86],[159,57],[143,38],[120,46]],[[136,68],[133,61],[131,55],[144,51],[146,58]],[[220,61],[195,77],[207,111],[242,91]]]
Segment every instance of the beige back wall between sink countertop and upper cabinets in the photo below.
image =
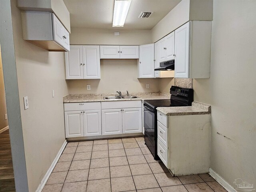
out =
[[[70,94],[158,92],[157,78],[137,78],[137,60],[100,60],[100,80],[66,80]],[[91,90],[86,90],[86,84]],[[146,89],[146,84],[150,88]]]

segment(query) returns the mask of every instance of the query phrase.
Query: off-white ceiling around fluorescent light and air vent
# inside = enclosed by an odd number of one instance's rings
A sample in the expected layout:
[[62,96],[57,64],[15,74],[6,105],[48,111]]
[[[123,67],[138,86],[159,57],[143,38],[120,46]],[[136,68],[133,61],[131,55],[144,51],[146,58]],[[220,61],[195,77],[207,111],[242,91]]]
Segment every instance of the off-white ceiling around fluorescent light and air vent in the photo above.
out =
[[[181,0],[132,0],[124,23],[119,29],[152,29]],[[113,29],[114,0],[64,0],[70,12],[71,28]],[[150,18],[138,18],[142,11],[154,12]]]

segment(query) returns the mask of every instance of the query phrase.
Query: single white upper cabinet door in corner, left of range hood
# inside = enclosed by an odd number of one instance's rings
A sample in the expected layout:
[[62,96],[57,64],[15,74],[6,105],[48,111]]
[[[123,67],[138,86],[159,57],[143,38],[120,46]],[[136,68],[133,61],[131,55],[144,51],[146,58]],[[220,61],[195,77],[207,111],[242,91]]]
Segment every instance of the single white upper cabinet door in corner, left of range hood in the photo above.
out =
[[154,43],[140,45],[138,78],[154,78]]

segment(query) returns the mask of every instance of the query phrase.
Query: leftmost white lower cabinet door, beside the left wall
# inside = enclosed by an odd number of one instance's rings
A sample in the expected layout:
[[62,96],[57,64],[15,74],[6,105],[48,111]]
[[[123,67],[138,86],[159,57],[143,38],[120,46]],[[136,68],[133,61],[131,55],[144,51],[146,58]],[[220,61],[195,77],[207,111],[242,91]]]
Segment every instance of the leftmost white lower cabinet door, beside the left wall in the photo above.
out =
[[65,115],[66,138],[83,137],[83,113],[82,111],[67,111]]

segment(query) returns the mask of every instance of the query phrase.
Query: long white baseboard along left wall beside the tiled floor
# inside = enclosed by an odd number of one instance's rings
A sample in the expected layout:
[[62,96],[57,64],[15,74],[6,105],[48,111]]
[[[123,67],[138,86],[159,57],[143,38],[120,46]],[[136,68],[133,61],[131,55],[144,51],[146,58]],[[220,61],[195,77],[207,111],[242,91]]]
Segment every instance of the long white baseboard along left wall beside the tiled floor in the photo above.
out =
[[55,165],[57,164],[57,162],[58,162],[63,150],[65,149],[67,143],[68,143],[67,140],[65,140],[64,143],[62,144],[56,158],[52,162],[50,168],[48,169],[48,171],[44,175],[44,178],[42,179],[41,183],[39,184],[38,188],[36,189],[36,192],[41,192],[43,190],[48,178],[50,177],[50,174],[52,173],[52,170],[54,169]]

